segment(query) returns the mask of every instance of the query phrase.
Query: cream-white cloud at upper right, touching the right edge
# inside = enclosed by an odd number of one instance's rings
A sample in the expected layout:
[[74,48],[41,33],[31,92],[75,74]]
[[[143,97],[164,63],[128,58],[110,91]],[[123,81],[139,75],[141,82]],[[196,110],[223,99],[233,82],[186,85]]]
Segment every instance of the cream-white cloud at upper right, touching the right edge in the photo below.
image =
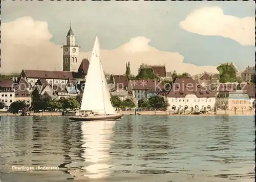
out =
[[180,22],[180,27],[201,35],[231,38],[242,45],[255,44],[254,17],[225,15],[220,7],[197,9]]

